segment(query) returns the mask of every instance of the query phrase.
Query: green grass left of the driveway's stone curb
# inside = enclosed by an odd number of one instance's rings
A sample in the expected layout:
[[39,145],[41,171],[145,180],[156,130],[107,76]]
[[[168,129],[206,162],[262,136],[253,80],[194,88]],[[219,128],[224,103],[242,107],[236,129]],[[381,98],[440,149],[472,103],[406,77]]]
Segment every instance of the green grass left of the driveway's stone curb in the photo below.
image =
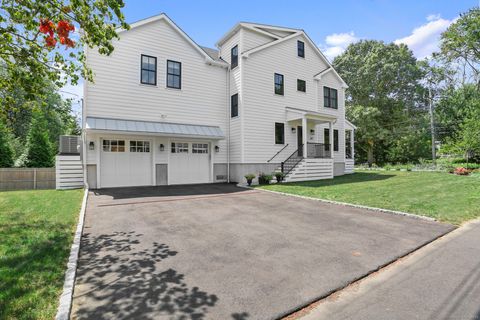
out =
[[0,192],[0,319],[53,319],[83,190]]

